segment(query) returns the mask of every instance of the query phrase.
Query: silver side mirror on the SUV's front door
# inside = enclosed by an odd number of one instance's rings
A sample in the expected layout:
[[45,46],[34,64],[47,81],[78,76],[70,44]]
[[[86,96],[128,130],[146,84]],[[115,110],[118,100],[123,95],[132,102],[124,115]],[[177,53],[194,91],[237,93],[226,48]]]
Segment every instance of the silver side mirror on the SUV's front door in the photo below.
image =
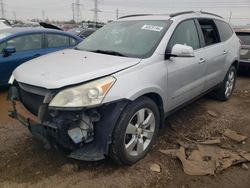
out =
[[194,57],[194,49],[191,46],[175,44],[169,57]]

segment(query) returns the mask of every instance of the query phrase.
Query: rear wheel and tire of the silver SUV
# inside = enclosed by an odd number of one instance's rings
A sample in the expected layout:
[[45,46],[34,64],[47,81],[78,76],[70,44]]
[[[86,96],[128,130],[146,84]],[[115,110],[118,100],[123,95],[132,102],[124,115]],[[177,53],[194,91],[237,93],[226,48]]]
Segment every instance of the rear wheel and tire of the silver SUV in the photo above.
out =
[[220,101],[228,101],[234,91],[236,82],[236,68],[231,66],[221,86],[212,92],[213,98]]

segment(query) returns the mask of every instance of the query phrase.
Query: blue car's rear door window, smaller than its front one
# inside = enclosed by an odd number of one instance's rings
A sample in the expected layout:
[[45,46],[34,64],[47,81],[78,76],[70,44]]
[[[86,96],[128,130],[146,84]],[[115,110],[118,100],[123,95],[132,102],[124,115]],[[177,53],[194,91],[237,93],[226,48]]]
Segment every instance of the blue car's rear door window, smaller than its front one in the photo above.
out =
[[47,39],[49,48],[70,46],[70,38],[65,35],[47,34]]

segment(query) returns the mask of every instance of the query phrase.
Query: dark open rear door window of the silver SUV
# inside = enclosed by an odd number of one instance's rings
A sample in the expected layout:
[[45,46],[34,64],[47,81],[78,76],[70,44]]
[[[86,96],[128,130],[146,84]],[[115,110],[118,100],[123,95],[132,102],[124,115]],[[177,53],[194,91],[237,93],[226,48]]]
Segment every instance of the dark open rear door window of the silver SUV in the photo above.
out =
[[210,46],[220,42],[219,33],[213,20],[198,20],[204,36],[205,46]]

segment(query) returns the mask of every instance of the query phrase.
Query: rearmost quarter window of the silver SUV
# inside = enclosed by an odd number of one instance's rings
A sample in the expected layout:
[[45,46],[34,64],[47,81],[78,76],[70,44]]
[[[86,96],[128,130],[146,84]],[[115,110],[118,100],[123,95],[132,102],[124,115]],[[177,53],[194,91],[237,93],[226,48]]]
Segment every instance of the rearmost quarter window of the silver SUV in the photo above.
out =
[[215,20],[215,24],[219,30],[220,39],[222,42],[228,40],[233,35],[233,30],[226,22]]

